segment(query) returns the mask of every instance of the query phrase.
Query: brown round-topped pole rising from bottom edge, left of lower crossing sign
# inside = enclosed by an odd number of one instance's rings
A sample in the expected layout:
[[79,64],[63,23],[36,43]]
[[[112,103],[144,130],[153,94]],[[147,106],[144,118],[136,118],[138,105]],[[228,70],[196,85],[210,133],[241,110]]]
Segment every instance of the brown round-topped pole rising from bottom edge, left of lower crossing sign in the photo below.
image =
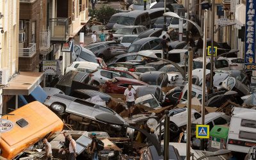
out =
[[187,102],[187,160],[190,160],[191,147],[191,99],[192,99],[192,70],[193,70],[193,50],[188,48],[188,102]]

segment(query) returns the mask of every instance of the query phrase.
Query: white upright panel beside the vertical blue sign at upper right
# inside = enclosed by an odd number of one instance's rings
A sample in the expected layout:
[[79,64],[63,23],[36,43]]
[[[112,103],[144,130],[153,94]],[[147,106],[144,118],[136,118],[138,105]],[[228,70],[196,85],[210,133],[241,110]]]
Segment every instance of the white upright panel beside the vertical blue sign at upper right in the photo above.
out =
[[236,5],[236,15],[235,15],[235,22],[236,22],[236,28],[241,29],[242,26],[245,25],[245,11],[246,6],[245,4],[237,4]]

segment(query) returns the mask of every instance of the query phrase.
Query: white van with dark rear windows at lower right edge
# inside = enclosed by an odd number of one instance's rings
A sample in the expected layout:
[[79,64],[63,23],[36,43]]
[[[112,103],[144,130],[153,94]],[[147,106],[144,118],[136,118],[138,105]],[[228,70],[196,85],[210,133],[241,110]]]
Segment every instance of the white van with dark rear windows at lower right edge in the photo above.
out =
[[228,131],[227,149],[248,153],[256,145],[256,110],[234,108]]

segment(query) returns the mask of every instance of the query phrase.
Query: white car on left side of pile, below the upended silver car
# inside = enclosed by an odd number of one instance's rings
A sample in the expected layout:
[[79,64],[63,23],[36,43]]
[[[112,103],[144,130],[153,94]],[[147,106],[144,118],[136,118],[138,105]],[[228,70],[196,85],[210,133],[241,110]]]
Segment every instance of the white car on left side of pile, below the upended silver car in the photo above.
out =
[[97,68],[99,68],[98,63],[93,63],[90,61],[74,61],[73,63],[68,65],[68,67],[65,70],[65,74],[67,74],[67,72],[69,72],[70,70],[78,70],[90,73]]

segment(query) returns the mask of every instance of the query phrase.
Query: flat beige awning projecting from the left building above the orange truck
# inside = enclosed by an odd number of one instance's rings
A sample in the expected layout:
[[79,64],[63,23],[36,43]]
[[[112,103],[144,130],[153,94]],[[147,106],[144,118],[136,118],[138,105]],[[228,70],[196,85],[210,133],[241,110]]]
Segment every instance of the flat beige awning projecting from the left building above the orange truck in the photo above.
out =
[[3,95],[29,95],[44,80],[40,72],[20,72],[3,88]]

